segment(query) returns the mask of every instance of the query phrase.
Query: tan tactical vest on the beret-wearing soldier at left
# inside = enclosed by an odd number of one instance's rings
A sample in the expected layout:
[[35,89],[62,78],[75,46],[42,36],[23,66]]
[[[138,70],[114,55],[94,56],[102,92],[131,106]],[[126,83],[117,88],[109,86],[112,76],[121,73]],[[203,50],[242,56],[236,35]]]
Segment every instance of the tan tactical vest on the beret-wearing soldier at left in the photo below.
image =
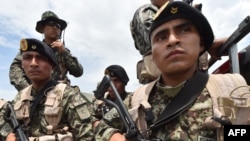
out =
[[[46,101],[44,103],[44,115],[48,122],[47,135],[41,137],[29,137],[30,141],[73,141],[72,134],[68,132],[68,127],[58,129],[58,124],[62,117],[62,98],[66,84],[59,83],[52,90],[46,93]],[[31,96],[32,86],[28,86],[21,91],[21,99],[14,105],[14,110],[18,120],[24,121],[25,125],[30,122],[30,101],[33,100]],[[65,132],[64,134],[60,134]],[[53,133],[57,133],[56,136]],[[56,137],[56,138],[55,138]]]

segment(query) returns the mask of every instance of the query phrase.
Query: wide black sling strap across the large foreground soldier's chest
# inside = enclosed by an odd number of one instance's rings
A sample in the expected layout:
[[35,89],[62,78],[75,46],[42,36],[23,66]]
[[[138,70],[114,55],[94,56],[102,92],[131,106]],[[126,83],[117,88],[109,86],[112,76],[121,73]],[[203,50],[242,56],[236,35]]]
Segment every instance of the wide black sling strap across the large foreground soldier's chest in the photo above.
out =
[[181,91],[173,98],[150,129],[156,129],[186,111],[201,94],[208,81],[208,75],[197,71]]

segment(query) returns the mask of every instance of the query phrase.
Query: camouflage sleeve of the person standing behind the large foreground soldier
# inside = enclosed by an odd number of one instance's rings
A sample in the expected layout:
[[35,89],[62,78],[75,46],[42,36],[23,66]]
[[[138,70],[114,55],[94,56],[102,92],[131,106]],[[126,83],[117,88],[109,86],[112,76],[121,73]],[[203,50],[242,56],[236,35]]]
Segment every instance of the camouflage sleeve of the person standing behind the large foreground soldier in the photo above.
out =
[[148,34],[157,10],[158,8],[152,4],[144,4],[136,10],[130,22],[130,31],[134,39],[135,48],[141,55],[151,52]]

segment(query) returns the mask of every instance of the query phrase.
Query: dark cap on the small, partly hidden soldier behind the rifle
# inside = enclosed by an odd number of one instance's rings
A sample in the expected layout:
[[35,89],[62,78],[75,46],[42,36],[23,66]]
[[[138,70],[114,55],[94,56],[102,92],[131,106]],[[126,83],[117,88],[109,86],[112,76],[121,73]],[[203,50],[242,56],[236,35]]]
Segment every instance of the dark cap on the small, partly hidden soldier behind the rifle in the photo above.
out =
[[104,72],[110,77],[118,77],[125,85],[127,85],[129,78],[125,69],[119,65],[110,65],[105,69]]

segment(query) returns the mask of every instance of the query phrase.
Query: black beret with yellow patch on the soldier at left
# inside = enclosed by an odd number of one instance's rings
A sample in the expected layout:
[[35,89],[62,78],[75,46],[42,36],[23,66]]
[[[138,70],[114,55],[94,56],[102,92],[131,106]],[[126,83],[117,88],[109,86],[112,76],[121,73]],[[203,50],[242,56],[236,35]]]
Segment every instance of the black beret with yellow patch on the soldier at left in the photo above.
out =
[[56,56],[52,48],[40,40],[34,38],[22,39],[20,41],[20,52],[22,54],[26,51],[36,51],[41,55],[46,56],[52,65],[57,65]]

